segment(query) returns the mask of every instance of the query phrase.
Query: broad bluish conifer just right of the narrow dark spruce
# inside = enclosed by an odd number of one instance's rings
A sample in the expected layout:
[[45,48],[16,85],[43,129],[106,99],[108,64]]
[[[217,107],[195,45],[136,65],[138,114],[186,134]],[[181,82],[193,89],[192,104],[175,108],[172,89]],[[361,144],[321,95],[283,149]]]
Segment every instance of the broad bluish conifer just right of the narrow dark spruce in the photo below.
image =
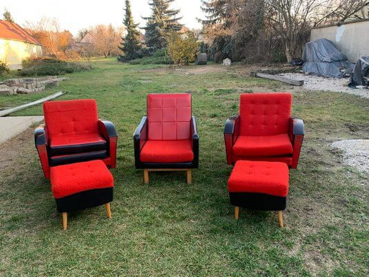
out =
[[179,10],[169,8],[174,0],[150,0],[152,14],[150,17],[142,17],[147,20],[145,30],[145,44],[152,52],[168,45],[168,37],[171,31],[179,31],[182,24],[178,23],[182,17],[176,17]]

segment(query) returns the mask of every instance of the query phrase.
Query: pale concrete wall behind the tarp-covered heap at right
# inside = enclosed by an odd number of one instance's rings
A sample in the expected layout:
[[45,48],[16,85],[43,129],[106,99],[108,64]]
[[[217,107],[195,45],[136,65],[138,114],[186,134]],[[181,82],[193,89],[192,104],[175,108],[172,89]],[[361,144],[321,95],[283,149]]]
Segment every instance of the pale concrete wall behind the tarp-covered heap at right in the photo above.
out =
[[356,62],[360,56],[369,56],[369,21],[311,30],[310,40],[318,38],[333,41],[350,62]]

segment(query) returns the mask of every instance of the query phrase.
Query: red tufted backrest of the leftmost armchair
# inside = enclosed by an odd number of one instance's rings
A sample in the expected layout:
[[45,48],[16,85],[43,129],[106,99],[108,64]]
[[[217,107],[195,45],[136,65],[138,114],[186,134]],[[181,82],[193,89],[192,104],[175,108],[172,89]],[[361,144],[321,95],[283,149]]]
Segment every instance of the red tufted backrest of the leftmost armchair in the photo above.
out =
[[95,100],[46,101],[43,108],[45,125],[50,136],[99,133]]

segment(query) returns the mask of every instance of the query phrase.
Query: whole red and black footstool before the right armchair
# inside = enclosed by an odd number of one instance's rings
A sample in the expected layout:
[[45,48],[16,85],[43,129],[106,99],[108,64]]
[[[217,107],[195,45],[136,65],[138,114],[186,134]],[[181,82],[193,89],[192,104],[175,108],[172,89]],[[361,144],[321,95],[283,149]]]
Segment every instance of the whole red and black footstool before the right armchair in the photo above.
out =
[[283,227],[282,211],[286,208],[289,170],[281,162],[239,160],[228,179],[231,205],[238,219],[239,207],[251,210],[278,211]]

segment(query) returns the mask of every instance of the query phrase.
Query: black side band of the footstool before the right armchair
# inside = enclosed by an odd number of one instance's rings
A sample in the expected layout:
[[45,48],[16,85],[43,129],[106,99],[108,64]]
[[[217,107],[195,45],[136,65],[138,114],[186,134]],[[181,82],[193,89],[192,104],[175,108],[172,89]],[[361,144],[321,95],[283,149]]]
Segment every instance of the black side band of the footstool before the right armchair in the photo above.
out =
[[231,205],[250,210],[283,211],[286,209],[287,197],[265,193],[229,193]]

